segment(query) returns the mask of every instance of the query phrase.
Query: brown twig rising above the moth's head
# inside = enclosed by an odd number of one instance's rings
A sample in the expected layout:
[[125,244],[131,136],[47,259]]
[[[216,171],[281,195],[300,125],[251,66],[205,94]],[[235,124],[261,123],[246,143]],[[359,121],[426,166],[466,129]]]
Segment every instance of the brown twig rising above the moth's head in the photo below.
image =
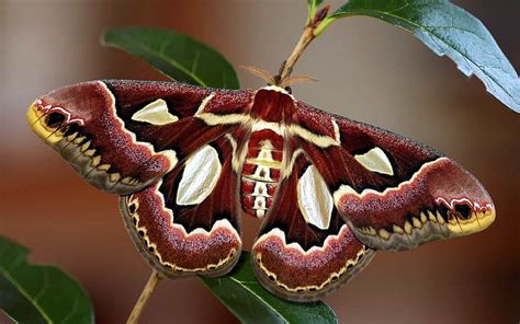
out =
[[302,36],[299,37],[298,43],[296,43],[296,46],[294,46],[293,51],[287,57],[287,59],[283,61],[282,66],[280,67],[279,74],[274,77],[274,79],[276,80],[276,85],[282,84],[282,81],[291,76],[291,73],[293,72],[294,65],[302,56],[305,48],[307,48],[310,42],[316,38],[316,27],[327,16],[329,9],[330,5],[325,5],[316,13],[314,19],[307,23],[302,33]]

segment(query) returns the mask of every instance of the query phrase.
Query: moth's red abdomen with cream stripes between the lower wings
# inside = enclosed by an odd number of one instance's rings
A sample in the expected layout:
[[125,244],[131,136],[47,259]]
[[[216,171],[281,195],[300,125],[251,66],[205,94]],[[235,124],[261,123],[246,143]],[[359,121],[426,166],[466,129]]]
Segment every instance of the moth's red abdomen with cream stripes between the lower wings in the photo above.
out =
[[282,158],[280,128],[251,132],[240,185],[241,205],[247,213],[262,218],[268,212],[279,185]]

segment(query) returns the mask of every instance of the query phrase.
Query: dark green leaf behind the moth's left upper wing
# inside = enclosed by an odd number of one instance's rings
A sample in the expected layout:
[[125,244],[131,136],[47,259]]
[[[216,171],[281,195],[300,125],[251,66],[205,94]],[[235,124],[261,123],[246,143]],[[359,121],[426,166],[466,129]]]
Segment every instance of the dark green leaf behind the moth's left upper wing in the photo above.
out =
[[149,27],[115,27],[106,30],[101,42],[143,58],[174,80],[239,88],[234,68],[219,53],[185,35]]

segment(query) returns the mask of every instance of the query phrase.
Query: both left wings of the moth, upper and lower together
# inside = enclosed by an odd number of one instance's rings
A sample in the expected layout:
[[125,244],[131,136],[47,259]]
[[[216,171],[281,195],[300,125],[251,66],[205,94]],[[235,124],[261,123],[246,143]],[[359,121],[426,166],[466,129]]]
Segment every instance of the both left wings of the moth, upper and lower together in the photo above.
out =
[[88,182],[125,195],[127,229],[157,270],[218,276],[241,250],[236,150],[250,102],[248,91],[108,80],[43,95],[27,117]]

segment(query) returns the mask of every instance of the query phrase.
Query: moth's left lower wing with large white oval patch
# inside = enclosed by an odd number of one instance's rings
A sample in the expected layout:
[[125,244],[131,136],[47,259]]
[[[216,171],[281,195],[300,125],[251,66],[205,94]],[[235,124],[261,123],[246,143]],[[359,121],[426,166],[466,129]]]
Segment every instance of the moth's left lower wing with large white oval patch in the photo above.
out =
[[190,154],[158,183],[121,197],[134,243],[166,276],[221,276],[238,261],[236,143],[231,135],[221,137]]

